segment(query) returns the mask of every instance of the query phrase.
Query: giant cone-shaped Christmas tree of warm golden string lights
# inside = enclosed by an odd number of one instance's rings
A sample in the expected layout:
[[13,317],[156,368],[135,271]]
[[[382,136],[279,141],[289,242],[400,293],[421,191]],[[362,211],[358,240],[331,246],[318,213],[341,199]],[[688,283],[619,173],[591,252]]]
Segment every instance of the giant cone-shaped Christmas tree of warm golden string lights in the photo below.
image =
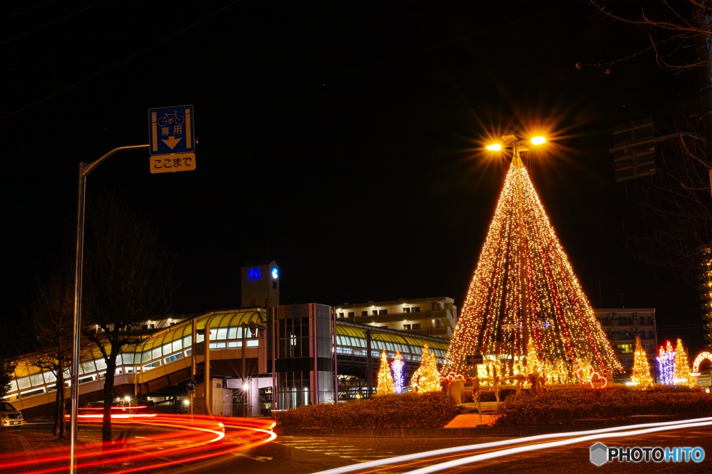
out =
[[567,367],[622,369],[517,147],[513,155],[441,373],[465,373],[468,354],[497,355],[509,374],[520,372],[530,340]]

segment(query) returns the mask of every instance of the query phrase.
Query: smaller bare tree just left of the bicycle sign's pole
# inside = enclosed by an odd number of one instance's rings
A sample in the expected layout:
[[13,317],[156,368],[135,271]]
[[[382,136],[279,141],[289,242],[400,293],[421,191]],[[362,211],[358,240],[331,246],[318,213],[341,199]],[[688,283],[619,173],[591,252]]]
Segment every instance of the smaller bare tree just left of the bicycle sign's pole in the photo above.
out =
[[[63,270],[36,285],[29,315],[30,342],[36,352],[27,356],[27,362],[56,377],[54,435],[64,438],[65,379],[71,370],[74,342],[74,275],[68,262],[63,261],[61,267]],[[91,353],[84,342],[80,344],[80,356],[87,359]]]

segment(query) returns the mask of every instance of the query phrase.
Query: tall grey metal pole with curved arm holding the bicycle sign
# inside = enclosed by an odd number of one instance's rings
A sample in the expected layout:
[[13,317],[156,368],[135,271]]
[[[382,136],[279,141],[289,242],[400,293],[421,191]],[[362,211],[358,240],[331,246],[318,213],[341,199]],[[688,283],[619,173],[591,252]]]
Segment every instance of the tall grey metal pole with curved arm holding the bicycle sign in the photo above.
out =
[[112,154],[125,149],[148,148],[148,144],[130,145],[127,147],[118,147],[112,149],[100,159],[90,164],[85,162],[79,163],[79,197],[77,204],[77,253],[75,258],[75,274],[74,274],[74,349],[72,354],[72,414],[71,414],[71,438],[69,448],[69,473],[76,473],[75,453],[77,445],[77,414],[79,408],[79,343],[81,338],[81,306],[82,306],[82,258],[84,253],[84,190],[86,177],[90,172],[93,172],[101,162],[110,157]]

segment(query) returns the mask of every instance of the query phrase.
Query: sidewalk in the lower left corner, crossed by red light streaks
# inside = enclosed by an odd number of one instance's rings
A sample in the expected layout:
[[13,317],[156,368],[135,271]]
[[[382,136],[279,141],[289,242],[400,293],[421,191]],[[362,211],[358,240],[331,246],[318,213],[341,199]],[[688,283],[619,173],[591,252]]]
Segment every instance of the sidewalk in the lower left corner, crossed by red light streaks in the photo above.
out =
[[[86,453],[93,443],[90,438],[79,438],[77,453]],[[69,438],[58,441],[44,433],[28,433],[7,428],[0,433],[0,465],[3,471],[32,472],[40,463],[49,466],[69,465]],[[51,460],[51,458],[58,458]]]

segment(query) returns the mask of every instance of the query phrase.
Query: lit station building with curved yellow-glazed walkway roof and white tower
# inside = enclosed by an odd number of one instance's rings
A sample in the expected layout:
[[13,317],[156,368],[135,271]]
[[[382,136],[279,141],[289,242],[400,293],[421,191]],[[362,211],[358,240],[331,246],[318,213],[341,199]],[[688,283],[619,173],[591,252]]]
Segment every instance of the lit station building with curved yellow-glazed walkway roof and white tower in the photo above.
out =
[[[372,313],[365,319],[341,317],[344,306],[280,305],[280,273],[274,261],[244,265],[241,276],[240,307],[147,321],[144,329],[150,337],[138,346],[123,347],[117,357],[115,397],[148,401],[152,408],[166,411],[185,412],[192,404],[197,414],[209,406],[222,416],[268,416],[271,409],[357,399],[375,392],[384,351],[389,359],[401,354],[406,383],[426,345],[441,364],[447,332],[436,330],[456,322],[456,308],[447,297],[368,303],[383,311],[376,319]],[[420,310],[403,309],[407,307]],[[409,322],[403,322],[404,317]],[[105,375],[98,351],[83,360],[80,406],[103,399]],[[65,377],[69,404],[68,371]],[[187,393],[190,380],[198,382],[193,397]],[[52,414],[55,398],[56,377],[33,367],[29,358],[21,360],[5,400],[31,419]]]

